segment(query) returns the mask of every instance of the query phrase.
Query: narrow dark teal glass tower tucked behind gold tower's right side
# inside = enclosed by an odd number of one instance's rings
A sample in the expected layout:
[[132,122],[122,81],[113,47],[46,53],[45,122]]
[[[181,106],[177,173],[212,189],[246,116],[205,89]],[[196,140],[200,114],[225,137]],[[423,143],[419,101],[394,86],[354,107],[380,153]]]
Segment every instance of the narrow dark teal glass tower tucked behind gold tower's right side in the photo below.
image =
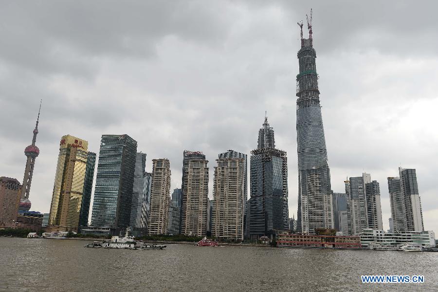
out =
[[82,191],[81,211],[79,214],[79,226],[88,226],[95,164],[96,153],[88,152],[87,167],[85,168],[84,190]]

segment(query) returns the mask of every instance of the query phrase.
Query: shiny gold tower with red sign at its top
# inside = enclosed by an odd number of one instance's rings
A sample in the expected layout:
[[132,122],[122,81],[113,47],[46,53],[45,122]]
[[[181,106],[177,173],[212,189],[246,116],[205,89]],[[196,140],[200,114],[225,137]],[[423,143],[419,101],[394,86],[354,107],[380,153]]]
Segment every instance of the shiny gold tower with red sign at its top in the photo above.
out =
[[62,136],[47,226],[48,232],[77,232],[87,159],[87,141],[71,135]]

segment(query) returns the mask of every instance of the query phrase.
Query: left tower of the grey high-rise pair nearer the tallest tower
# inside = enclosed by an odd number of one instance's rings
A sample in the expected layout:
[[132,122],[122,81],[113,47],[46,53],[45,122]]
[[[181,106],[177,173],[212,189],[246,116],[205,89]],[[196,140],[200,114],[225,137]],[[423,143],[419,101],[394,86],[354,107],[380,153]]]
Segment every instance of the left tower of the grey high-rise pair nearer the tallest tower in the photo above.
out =
[[348,234],[358,235],[368,228],[366,217],[365,183],[371,182],[371,176],[363,173],[361,177],[351,177],[345,181],[347,196]]

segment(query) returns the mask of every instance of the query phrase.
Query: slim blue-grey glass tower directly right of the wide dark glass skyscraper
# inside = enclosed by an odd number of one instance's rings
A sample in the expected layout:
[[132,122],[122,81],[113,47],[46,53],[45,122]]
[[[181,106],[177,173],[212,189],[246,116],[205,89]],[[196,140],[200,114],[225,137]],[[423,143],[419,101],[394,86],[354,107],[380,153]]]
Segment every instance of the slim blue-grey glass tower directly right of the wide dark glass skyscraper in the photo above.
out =
[[129,226],[141,228],[142,205],[146,196],[146,153],[137,152],[135,156],[134,184],[132,187],[131,216]]

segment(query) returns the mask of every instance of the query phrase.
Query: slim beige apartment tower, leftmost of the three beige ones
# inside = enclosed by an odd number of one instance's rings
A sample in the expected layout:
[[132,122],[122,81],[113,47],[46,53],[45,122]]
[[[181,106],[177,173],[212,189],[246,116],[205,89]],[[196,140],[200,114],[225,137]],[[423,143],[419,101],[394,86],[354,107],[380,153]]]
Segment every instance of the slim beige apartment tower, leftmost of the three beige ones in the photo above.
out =
[[170,205],[170,162],[168,159],[152,159],[152,187],[148,234],[165,234]]

